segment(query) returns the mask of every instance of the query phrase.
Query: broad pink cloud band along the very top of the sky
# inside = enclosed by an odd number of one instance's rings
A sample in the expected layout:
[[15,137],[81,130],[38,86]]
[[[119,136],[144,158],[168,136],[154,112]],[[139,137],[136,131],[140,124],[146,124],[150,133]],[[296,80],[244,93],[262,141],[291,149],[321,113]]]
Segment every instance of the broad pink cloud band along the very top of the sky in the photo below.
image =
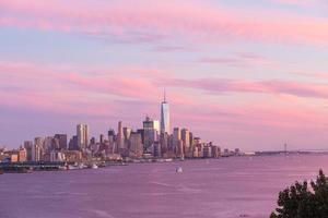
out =
[[224,38],[327,45],[328,24],[325,19],[270,11],[250,14],[243,10],[196,2],[130,3],[127,7],[127,2],[121,1],[1,1],[0,24],[84,33],[121,41],[184,37],[201,43]]

